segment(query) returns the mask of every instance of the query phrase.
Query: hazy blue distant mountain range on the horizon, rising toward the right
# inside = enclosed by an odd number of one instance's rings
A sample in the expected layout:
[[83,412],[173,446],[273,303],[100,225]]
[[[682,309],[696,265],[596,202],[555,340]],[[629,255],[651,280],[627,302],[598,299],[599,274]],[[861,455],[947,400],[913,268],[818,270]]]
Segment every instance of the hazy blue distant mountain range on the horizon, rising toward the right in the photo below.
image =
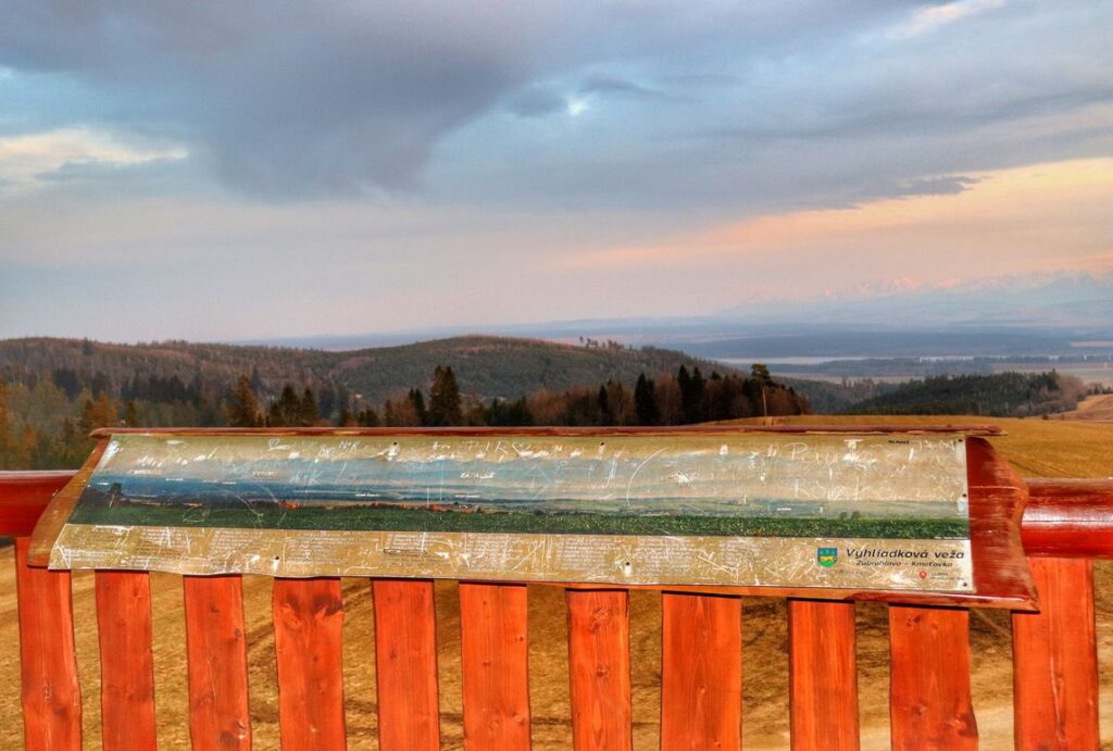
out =
[[[581,318],[531,324],[470,326],[484,335],[532,337],[574,342],[581,336],[612,338],[622,343],[664,348],[748,337],[843,335],[861,332],[912,333],[920,337],[954,340],[972,333],[992,333],[1013,339],[1030,337],[1032,347],[1013,347],[1008,354],[1050,354],[1051,339],[1058,349],[1072,338],[1113,338],[1113,271],[1080,271],[998,276],[958,283],[922,285],[894,279],[858,286],[839,294],[811,299],[756,299],[696,316],[631,318]],[[402,345],[460,334],[459,327],[441,326],[407,332],[321,335],[245,342],[248,345],[286,345],[325,349]],[[1035,342],[1040,339],[1040,342]],[[1064,344],[1066,343],[1066,344]],[[791,355],[815,356],[810,344],[799,342]],[[918,345],[917,345],[918,346]],[[700,354],[733,356],[730,348]],[[1027,352],[1026,349],[1031,349]],[[981,354],[975,346],[968,353]],[[752,352],[768,356],[769,352]],[[856,355],[881,352],[854,352]],[[922,352],[895,353],[928,354]]]

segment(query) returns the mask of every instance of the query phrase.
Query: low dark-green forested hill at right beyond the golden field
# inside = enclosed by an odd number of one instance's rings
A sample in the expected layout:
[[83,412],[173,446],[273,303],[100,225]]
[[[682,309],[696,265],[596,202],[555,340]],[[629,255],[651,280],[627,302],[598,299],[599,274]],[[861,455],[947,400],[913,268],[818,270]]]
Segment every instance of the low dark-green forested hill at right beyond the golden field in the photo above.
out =
[[858,415],[987,415],[1025,417],[1074,409],[1085,396],[1078,378],[1050,373],[937,376],[910,381],[845,409]]

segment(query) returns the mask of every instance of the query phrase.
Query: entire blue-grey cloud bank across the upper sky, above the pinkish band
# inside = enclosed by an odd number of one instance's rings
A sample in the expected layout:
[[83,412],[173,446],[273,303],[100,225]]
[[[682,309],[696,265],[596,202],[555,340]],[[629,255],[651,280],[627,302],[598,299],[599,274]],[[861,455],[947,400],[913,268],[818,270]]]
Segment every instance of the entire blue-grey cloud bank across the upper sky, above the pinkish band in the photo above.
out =
[[1107,118],[1075,115],[1113,102],[1109,17],[1081,1],[8,0],[0,66],[22,88],[0,79],[20,110],[0,130],[158,136],[280,199],[841,205],[1107,151]]

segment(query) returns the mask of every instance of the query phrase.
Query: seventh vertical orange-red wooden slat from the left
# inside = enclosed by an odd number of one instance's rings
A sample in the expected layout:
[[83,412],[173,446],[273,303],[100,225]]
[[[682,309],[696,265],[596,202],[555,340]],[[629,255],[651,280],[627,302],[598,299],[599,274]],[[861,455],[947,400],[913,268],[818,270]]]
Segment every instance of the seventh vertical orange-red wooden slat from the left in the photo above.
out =
[[615,590],[568,590],[568,651],[575,751],[628,751],[630,599]]

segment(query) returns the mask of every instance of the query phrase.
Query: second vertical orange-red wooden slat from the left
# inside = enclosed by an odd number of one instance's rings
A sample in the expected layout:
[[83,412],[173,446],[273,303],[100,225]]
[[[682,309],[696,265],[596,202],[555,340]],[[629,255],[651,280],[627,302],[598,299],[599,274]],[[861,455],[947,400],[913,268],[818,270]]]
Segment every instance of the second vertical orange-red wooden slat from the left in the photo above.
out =
[[105,751],[156,749],[150,574],[99,571],[96,595]]

